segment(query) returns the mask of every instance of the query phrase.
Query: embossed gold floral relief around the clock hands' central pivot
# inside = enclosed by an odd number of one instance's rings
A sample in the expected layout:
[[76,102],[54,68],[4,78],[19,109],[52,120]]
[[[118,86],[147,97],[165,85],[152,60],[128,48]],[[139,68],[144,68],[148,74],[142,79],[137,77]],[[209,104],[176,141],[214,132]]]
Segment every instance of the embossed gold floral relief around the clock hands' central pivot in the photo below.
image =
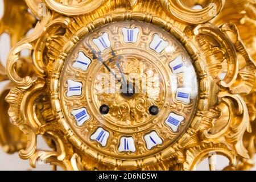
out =
[[[145,60],[122,60],[121,67],[128,84],[134,85],[135,96],[129,99],[123,97],[122,82],[114,81],[114,84],[110,84],[110,79],[114,80],[115,78],[106,68],[101,71],[105,74],[96,79],[96,94],[101,104],[110,106],[109,113],[113,122],[133,126],[147,121],[150,117],[148,113],[150,106],[161,105],[163,82],[158,82],[158,71]],[[110,68],[117,76],[121,77],[115,64],[110,64]],[[102,80],[105,81],[103,85]],[[103,89],[102,92],[100,92],[101,89]]]

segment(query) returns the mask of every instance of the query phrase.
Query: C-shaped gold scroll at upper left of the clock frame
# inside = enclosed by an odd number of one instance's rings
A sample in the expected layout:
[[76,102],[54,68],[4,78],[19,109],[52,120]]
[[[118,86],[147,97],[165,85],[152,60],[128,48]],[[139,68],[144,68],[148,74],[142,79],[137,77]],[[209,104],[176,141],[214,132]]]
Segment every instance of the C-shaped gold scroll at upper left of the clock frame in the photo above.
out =
[[[51,19],[52,14],[47,11],[46,16],[43,16],[42,20],[38,22],[38,24],[36,24],[34,31],[29,36],[27,36],[27,38],[24,38],[21,42],[16,44],[11,50],[6,64],[6,69],[9,70],[7,75],[9,76],[10,80],[13,81],[15,85],[20,88],[28,88],[35,80],[35,78],[32,78],[31,76],[20,77],[19,74],[16,72],[15,63],[17,63],[17,61],[21,59],[20,52],[24,49],[34,51],[34,54],[32,56],[34,71],[36,75],[44,76],[47,64],[44,63],[44,59],[42,56],[42,48],[45,47],[44,42],[46,41],[45,36],[56,33],[56,31],[59,30],[59,28],[61,27],[57,26],[57,24],[64,24],[64,26],[65,24],[68,24],[65,18],[60,18],[60,20],[56,18],[55,21],[50,22]],[[47,31],[51,27],[55,28],[53,28],[51,31]],[[44,39],[42,40],[42,38]],[[38,44],[38,40],[40,41],[40,44]]]

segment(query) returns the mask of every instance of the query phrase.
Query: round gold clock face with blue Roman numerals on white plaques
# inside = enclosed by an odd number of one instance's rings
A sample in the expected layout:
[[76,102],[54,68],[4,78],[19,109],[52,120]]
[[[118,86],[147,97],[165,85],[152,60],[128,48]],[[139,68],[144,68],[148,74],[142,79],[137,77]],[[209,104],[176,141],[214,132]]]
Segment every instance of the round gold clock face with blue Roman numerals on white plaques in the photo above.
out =
[[73,133],[90,150],[140,159],[171,146],[189,127],[198,100],[191,57],[149,23],[109,23],[68,55],[60,102]]

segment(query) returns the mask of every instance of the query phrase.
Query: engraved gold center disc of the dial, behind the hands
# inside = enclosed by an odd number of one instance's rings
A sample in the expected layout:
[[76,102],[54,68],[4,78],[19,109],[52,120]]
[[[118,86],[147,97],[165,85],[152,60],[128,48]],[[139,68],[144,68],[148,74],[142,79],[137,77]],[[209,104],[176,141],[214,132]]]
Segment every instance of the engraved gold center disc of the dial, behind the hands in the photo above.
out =
[[[123,57],[119,61],[119,68],[113,62],[106,67],[99,67],[98,75],[94,77],[94,101],[97,105],[107,104],[110,107],[106,121],[118,126],[137,126],[151,122],[154,115],[149,112],[152,105],[163,109],[167,102],[167,84],[170,78],[162,73],[163,64],[155,65],[154,52],[138,55],[138,48],[116,51]],[[150,60],[151,58],[151,60]],[[170,69],[170,68],[168,68]],[[123,75],[122,75],[123,74]],[[115,77],[121,79],[118,81]],[[125,81],[123,81],[125,80]],[[162,99],[161,99],[162,98]]]

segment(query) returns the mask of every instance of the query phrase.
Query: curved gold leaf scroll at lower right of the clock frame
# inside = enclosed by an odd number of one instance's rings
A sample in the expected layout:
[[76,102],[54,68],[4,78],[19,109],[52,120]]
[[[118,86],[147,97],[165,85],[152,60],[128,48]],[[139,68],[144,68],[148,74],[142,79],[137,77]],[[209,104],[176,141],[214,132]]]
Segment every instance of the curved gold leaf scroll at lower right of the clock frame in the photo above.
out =
[[[228,146],[236,149],[237,154],[243,156],[243,158],[249,158],[246,148],[243,146],[243,134],[245,131],[251,132],[251,126],[249,121],[249,115],[247,107],[242,97],[239,95],[229,94],[228,92],[220,92],[218,94],[220,100],[228,106],[229,115],[228,118],[224,117],[223,120],[216,120],[212,127],[212,133],[204,131],[204,135],[210,141],[216,143],[225,143]],[[227,113],[222,113],[226,115]],[[226,121],[228,119],[228,121]],[[221,126],[218,125],[221,122]],[[215,127],[218,127],[216,129]],[[233,147],[234,146],[234,147]]]

